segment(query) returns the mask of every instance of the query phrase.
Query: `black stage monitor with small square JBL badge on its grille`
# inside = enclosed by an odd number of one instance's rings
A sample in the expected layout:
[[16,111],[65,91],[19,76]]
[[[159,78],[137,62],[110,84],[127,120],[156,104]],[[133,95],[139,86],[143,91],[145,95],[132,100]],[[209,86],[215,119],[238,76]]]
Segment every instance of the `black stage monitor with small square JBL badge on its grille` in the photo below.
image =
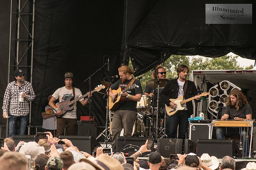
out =
[[157,152],[164,158],[169,158],[170,154],[182,154],[183,139],[157,139]]

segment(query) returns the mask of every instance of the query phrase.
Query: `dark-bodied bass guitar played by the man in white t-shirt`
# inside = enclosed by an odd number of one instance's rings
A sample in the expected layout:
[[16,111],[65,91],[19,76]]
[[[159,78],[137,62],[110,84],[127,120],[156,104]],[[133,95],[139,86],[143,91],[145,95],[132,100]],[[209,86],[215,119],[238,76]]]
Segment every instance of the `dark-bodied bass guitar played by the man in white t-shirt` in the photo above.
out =
[[[104,88],[105,88],[104,85],[100,85],[99,87],[94,88],[94,90],[92,90],[91,93],[98,92],[98,91],[100,91],[101,89],[104,89]],[[76,98],[76,99],[74,99],[74,96],[70,96],[65,101],[56,103],[55,106],[60,109],[60,111],[62,112],[62,115],[56,115],[57,114],[56,110],[52,109],[53,112],[54,112],[54,115],[56,117],[62,117],[67,111],[70,111],[70,110],[74,109],[74,107],[70,107],[70,106],[72,106],[74,103],[83,99],[86,96],[88,96],[88,94],[84,94],[83,96],[81,96],[79,98]],[[72,100],[72,99],[74,99],[74,100]]]

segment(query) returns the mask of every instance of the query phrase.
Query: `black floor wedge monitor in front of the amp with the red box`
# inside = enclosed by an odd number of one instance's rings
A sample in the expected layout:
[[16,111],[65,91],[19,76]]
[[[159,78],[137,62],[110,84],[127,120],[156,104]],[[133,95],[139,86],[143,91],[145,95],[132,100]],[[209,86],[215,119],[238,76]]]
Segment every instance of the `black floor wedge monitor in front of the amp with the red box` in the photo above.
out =
[[92,136],[69,136],[60,135],[59,139],[68,139],[76,146],[80,151],[90,153],[94,151],[95,147],[100,147],[100,143]]

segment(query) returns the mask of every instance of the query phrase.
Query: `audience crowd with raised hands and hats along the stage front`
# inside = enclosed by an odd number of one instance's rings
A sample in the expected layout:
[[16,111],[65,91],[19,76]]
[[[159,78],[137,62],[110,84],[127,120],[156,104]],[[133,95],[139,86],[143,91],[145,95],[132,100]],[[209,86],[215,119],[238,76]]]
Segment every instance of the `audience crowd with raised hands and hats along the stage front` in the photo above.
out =
[[[124,153],[104,154],[102,147],[95,148],[96,155],[80,151],[68,139],[58,144],[60,139],[47,132],[47,139],[36,142],[20,141],[15,146],[12,138],[5,138],[0,150],[0,170],[235,170],[235,159],[222,158],[221,163],[215,156],[204,153],[201,157],[195,153],[177,154],[178,159],[164,158],[159,152],[147,149],[148,140],[138,151],[132,154],[128,162]],[[139,160],[139,156],[151,152],[148,159]],[[249,162],[243,170],[255,170],[256,163]]]

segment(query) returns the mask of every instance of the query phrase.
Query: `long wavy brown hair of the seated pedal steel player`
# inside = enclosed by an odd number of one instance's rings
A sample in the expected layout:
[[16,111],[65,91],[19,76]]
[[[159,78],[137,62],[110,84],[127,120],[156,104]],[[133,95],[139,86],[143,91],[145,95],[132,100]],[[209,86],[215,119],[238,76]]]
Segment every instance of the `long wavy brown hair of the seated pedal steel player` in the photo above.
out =
[[227,105],[228,106],[232,106],[231,105],[231,99],[230,99],[230,95],[233,95],[236,97],[236,110],[238,110],[240,107],[242,107],[244,104],[248,103],[245,95],[237,88],[231,90],[231,92],[228,95],[228,101],[227,101]]

